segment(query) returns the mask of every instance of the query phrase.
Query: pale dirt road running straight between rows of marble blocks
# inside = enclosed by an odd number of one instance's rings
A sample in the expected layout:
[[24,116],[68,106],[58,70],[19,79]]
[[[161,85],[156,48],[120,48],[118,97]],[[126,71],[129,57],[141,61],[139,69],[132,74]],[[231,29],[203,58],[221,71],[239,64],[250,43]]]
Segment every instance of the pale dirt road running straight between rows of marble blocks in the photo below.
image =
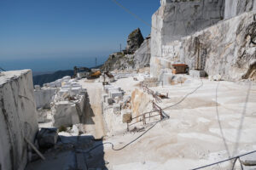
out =
[[102,139],[105,136],[105,126],[102,116],[102,83],[87,82],[84,79],[79,83],[87,89],[90,104],[86,106],[86,122],[84,130],[90,133],[95,139]]

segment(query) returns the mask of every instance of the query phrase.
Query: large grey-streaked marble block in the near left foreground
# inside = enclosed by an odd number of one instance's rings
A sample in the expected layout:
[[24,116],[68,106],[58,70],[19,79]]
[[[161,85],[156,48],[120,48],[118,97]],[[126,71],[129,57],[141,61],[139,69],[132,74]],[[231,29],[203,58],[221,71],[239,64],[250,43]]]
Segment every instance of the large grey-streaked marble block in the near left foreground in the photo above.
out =
[[23,170],[28,144],[38,132],[32,71],[3,71],[0,76],[0,167]]

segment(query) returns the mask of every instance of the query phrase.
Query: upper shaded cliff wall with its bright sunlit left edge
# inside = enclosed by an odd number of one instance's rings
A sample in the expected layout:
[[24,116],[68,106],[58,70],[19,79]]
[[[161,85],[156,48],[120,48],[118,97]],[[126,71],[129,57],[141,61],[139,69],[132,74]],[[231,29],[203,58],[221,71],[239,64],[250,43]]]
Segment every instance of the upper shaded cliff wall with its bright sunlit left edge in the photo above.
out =
[[224,19],[224,0],[162,0],[152,16],[151,75],[157,77],[157,58],[162,46],[200,31]]

